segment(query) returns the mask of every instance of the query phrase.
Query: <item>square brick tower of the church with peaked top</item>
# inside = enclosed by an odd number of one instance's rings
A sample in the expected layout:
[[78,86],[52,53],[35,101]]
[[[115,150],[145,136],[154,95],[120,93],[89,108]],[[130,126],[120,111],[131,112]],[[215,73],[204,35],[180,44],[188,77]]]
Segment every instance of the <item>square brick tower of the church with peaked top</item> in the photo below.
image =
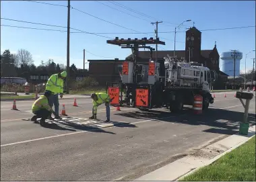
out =
[[201,32],[193,26],[186,32],[185,59],[187,62],[201,62]]

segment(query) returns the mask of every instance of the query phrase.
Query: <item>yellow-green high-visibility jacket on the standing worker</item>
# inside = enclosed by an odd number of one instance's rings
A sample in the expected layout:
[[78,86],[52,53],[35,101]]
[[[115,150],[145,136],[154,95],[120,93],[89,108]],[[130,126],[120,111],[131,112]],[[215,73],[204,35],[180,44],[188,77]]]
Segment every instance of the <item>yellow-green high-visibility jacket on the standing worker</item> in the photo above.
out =
[[58,74],[51,75],[45,87],[46,91],[51,91],[53,94],[63,93],[63,79],[59,78]]

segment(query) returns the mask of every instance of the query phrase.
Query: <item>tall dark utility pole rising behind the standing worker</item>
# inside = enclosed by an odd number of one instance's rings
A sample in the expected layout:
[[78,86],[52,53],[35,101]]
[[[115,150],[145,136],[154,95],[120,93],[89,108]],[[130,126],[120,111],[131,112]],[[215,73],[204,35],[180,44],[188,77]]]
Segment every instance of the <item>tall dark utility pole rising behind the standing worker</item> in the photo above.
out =
[[69,34],[70,34],[70,0],[67,0],[67,80],[66,90],[69,93]]

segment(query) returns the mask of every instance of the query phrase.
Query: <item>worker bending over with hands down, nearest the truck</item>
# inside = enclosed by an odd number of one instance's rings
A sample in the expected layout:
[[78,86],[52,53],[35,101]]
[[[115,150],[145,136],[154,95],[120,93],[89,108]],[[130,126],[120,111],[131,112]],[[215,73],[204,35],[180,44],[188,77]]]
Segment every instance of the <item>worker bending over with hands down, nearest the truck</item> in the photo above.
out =
[[97,119],[97,108],[99,105],[102,105],[102,103],[105,103],[106,105],[106,122],[110,122],[110,97],[107,93],[92,93],[91,98],[92,101],[92,117],[89,119]]

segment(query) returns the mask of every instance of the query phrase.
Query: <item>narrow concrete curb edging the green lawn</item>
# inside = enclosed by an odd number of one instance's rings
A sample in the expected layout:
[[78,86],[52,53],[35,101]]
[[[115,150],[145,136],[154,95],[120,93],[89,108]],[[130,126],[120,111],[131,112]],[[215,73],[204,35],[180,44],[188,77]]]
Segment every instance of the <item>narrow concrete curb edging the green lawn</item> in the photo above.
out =
[[[255,126],[254,126],[255,128]],[[243,136],[241,134],[234,134],[234,135],[238,135],[238,136]],[[248,135],[247,135],[248,136]],[[201,167],[197,167],[196,169],[193,169],[192,171],[189,171],[189,173],[186,173],[185,175],[179,177],[179,179],[175,179],[175,181],[179,181],[181,179],[183,179],[184,177],[187,177],[188,175],[191,175],[192,173],[195,173],[196,171],[198,171],[199,169],[201,169],[202,167],[206,167],[208,165],[211,165],[212,163],[214,163],[215,161],[217,161],[219,158],[221,158],[222,156],[224,156],[225,154],[231,152],[232,150],[238,148],[239,146],[245,144],[246,142],[248,142],[251,138],[253,138],[253,136],[255,136],[255,131],[253,132],[253,134],[251,134],[251,136],[249,138],[247,138],[247,140],[240,142],[238,144],[236,144],[235,146],[232,146],[231,148],[229,148],[228,150],[226,150],[225,152],[223,152],[222,154],[219,154],[218,156],[215,156],[214,158],[210,159],[210,161],[208,161],[207,163],[205,163],[205,165],[201,166]]]

